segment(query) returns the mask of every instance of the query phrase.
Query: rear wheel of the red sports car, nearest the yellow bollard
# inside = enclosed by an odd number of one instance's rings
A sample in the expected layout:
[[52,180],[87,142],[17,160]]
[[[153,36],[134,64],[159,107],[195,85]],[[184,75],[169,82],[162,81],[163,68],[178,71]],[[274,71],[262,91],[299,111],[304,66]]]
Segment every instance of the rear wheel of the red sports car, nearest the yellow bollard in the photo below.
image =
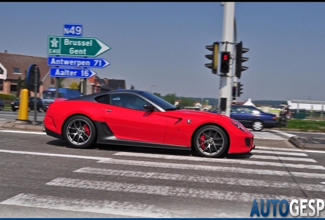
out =
[[97,136],[94,123],[84,116],[69,118],[64,124],[62,133],[66,143],[77,149],[89,148]]

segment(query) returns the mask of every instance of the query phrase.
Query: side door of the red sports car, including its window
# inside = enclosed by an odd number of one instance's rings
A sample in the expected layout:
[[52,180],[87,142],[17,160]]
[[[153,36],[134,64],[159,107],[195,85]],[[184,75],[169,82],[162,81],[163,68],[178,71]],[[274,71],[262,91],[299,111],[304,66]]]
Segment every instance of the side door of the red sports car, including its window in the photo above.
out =
[[[113,134],[119,139],[163,143],[167,121],[161,112],[143,108],[147,103],[133,94],[118,93],[104,97],[109,104],[102,111],[102,116]],[[136,99],[137,109],[126,107],[127,98]],[[107,102],[107,101],[106,101]]]

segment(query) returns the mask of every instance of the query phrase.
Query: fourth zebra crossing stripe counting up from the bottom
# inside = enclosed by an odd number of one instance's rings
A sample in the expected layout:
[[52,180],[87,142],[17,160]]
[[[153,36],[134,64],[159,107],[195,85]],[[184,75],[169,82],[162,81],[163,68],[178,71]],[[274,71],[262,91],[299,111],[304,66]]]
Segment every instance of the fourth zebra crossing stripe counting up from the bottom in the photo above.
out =
[[317,179],[325,178],[325,174],[318,174],[318,173],[291,172],[289,174],[286,171],[259,170],[259,169],[221,167],[221,166],[216,167],[216,166],[186,164],[186,163],[167,163],[167,162],[151,162],[151,161],[138,161],[138,160],[122,160],[122,159],[99,160],[97,162],[109,163],[109,164],[123,164],[129,166],[171,168],[171,169],[181,169],[181,170],[218,171],[218,172],[228,172],[228,173],[244,173],[244,174],[259,174],[259,175],[274,175],[274,176],[293,175],[293,176],[317,178]]

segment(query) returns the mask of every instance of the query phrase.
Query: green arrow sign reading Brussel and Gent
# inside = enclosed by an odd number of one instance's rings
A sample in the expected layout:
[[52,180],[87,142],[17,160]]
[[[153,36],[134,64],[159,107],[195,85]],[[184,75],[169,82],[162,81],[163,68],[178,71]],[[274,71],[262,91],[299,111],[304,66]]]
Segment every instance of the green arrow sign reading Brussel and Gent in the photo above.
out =
[[48,36],[48,55],[97,57],[109,49],[97,38]]

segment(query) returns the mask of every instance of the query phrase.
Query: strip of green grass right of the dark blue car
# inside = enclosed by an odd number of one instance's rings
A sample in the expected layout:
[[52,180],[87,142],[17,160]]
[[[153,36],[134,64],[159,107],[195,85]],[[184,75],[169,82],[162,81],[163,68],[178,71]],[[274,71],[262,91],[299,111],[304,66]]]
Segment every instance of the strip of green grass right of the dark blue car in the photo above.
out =
[[316,130],[325,132],[325,121],[307,119],[289,119],[283,128],[298,129],[301,131]]

